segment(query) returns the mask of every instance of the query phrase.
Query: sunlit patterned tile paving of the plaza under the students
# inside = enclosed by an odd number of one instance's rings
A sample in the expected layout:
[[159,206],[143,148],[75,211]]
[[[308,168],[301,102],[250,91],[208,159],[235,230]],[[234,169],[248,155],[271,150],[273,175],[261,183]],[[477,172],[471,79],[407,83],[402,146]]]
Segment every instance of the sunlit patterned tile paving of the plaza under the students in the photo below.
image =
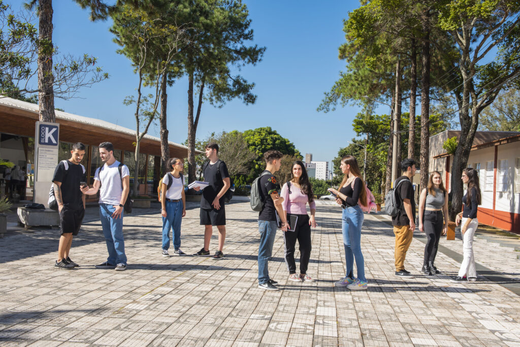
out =
[[[181,232],[181,248],[190,254],[203,241],[194,205]],[[436,261],[442,274],[423,276],[425,238],[416,231],[405,263],[415,278],[397,278],[388,217],[365,214],[369,288],[349,291],[333,287],[345,276],[341,211],[317,207],[308,269],[315,282],[288,281],[277,233],[269,263],[277,292],[257,288],[257,214],[248,202],[226,205],[219,261],[161,256],[157,210],[125,216],[124,272],[94,268],[107,257],[95,207],[87,208],[87,223],[72,243],[78,269],[54,268],[59,230],[8,233],[0,239],[0,346],[520,346],[514,248],[476,239],[478,281],[453,284],[462,241],[442,239]]]

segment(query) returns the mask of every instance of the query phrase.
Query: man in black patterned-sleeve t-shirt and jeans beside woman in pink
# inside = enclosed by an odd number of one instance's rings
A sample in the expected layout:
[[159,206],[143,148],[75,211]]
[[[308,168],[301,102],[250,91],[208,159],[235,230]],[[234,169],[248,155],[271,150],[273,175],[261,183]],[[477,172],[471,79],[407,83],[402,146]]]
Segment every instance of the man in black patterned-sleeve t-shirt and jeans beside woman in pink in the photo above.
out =
[[276,213],[280,216],[281,227],[287,229],[287,220],[282,209],[283,198],[280,197],[280,185],[275,177],[275,172],[280,170],[283,154],[271,149],[264,153],[266,168],[258,178],[259,192],[264,205],[258,213],[258,232],[260,244],[258,245],[258,288],[265,290],[278,290],[277,281],[269,277],[268,263],[272,255],[272,246],[275,242],[278,222]]

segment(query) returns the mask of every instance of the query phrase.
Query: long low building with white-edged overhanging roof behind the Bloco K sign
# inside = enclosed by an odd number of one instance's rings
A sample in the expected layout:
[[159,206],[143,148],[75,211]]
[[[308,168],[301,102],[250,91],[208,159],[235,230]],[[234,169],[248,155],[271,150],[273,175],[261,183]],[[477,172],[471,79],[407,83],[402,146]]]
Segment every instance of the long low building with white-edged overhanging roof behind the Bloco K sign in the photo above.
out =
[[[14,162],[20,169],[25,168],[26,183],[21,184],[21,199],[32,199],[34,174],[34,133],[38,121],[38,105],[11,98],[0,98],[0,158]],[[135,130],[95,118],[56,111],[56,122],[60,124],[59,160],[70,158],[73,143],[82,142],[87,146],[82,164],[85,165],[88,183],[94,183],[96,169],[101,166],[98,145],[111,142],[114,156],[126,164],[130,170],[130,183],[133,185],[135,169]],[[186,158],[188,148],[173,142],[170,156]],[[161,142],[160,138],[145,135],[140,143],[139,154],[139,194],[157,192],[160,180]],[[0,189],[5,191],[5,181],[0,168]],[[157,193],[155,193],[157,194]],[[91,199],[97,199],[93,196]]]

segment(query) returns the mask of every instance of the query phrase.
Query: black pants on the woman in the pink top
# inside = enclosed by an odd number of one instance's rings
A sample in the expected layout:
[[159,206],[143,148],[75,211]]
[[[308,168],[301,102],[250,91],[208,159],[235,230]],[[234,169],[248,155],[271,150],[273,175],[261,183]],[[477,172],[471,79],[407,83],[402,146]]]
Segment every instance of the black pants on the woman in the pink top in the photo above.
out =
[[[287,214],[287,220],[290,220],[290,213]],[[283,242],[285,244],[285,264],[289,269],[289,274],[296,273],[296,262],[294,261],[294,251],[296,240],[300,245],[300,273],[306,274],[309,265],[310,250],[312,248],[310,241],[310,225],[308,214],[293,214],[298,216],[295,230],[287,230],[283,233]]]

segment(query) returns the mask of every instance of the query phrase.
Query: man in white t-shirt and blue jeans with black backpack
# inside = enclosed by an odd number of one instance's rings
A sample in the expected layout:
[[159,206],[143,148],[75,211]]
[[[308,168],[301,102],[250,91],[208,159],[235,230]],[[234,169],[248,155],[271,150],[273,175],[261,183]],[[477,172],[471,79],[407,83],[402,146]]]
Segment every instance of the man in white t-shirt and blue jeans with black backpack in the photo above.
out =
[[84,188],[87,195],[99,195],[99,218],[107,241],[108,258],[97,268],[126,270],[125,242],[123,240],[123,207],[130,190],[128,167],[115,160],[114,146],[110,142],[99,145],[99,157],[105,163],[96,170],[94,187]]

